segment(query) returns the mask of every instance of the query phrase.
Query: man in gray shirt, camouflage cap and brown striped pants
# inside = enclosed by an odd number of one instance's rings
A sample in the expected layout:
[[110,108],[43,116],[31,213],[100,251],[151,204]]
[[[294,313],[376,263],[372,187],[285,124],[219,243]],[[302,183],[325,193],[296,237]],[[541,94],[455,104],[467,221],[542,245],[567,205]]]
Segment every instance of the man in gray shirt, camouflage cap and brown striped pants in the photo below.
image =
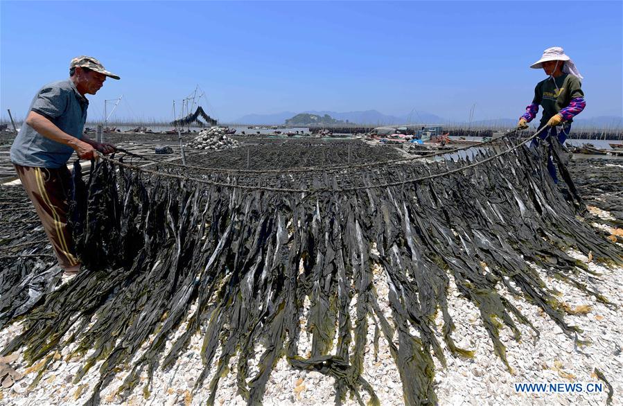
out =
[[96,94],[107,77],[119,79],[95,58],[73,58],[69,80],[49,83],[37,92],[10,150],[17,176],[66,274],[80,270],[67,227],[71,188],[67,161],[73,151],[80,159],[97,159],[97,151],[114,152],[114,145],[98,143],[82,134],[89,107],[85,94]]

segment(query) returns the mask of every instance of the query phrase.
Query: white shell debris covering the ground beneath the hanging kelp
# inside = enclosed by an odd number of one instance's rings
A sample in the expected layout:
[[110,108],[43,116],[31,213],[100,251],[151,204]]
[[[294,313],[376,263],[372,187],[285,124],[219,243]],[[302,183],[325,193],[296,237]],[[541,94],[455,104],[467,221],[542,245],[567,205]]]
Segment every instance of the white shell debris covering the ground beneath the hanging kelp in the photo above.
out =
[[[376,249],[373,249],[373,252]],[[520,382],[599,382],[593,373],[595,367],[604,373],[614,389],[613,405],[621,405],[623,392],[623,325],[619,322],[623,318],[623,267],[604,267],[593,262],[577,251],[568,251],[573,258],[587,263],[590,270],[597,272],[599,277],[578,276],[581,283],[586,283],[591,289],[604,294],[615,306],[606,306],[593,297],[589,297],[577,288],[554,279],[538,267],[534,270],[547,283],[556,289],[560,300],[571,308],[579,311],[577,314],[566,315],[565,321],[578,326],[583,330],[581,339],[590,339],[591,344],[576,346],[574,339],[565,335],[550,317],[547,317],[540,308],[527,302],[522,297],[514,297],[506,288],[500,288],[504,297],[509,298],[523,312],[534,326],[540,331],[537,337],[530,328],[518,324],[523,339],[514,341],[508,328],[500,330],[500,339],[507,348],[507,358],[512,372],[508,371],[500,358],[494,355],[493,346],[489,339],[480,313],[471,301],[462,297],[457,291],[453,279],[450,279],[448,289],[448,311],[455,321],[455,330],[452,333],[457,346],[475,351],[474,358],[459,358],[451,355],[441,337],[441,312],[438,312],[437,339],[444,349],[448,367],[444,367],[435,360],[435,392],[440,405],[604,405],[608,396],[607,389],[598,393],[520,393],[514,388]],[[374,285],[378,294],[378,306],[390,323],[394,323],[392,310],[387,299],[389,294],[388,276],[382,267],[374,266]],[[351,302],[351,319],[356,318],[356,301]],[[304,315],[308,313],[310,303],[305,299]],[[166,345],[168,353],[172,343],[188,328],[188,317],[195,312],[196,303],[188,310],[187,319],[176,333],[170,337]],[[76,325],[78,324],[76,321]],[[299,338],[299,355],[308,356],[311,349],[311,335],[306,328],[306,317],[300,319],[301,336]],[[369,330],[365,358],[363,361],[365,378],[373,387],[381,405],[404,405],[401,377],[396,368],[389,344],[385,337],[379,340],[378,356],[372,341],[374,339],[374,320],[368,319]],[[0,330],[0,348],[6,348],[10,339],[23,332],[23,323],[17,322]],[[71,328],[64,338],[73,333]],[[337,337],[335,337],[337,339]],[[394,336],[394,339],[396,337]],[[196,333],[185,353],[180,355],[175,364],[166,371],[157,369],[149,390],[143,392],[148,383],[146,372],[143,371],[141,384],[135,387],[125,400],[118,396],[123,379],[128,371],[119,371],[114,380],[101,394],[101,405],[202,405],[209,398],[209,381],[216,373],[216,362],[211,365],[207,379],[203,385],[194,389],[196,378],[200,375],[202,365],[203,336]],[[394,344],[398,344],[394,342]],[[82,405],[93,391],[100,376],[100,366],[103,361],[96,363],[87,374],[74,383],[73,378],[78,373],[84,359],[67,359],[67,355],[76,348],[63,348],[61,353],[55,353],[54,366],[47,371],[39,384],[32,390],[28,385],[37,376],[42,362],[29,366],[19,353],[17,359],[0,359],[0,362],[10,364],[23,378],[16,380],[9,388],[0,385],[0,405]],[[146,346],[143,346],[143,349]],[[263,346],[258,344],[257,354]],[[335,342],[332,354],[335,354]],[[88,357],[89,353],[85,355]],[[134,361],[139,359],[142,352],[137,353]],[[215,360],[218,360],[220,350]],[[15,356],[14,356],[15,357]],[[131,364],[131,363],[130,363]],[[229,360],[227,375],[220,380],[216,393],[218,406],[246,405],[245,400],[238,393],[236,382],[236,365],[238,356]],[[249,362],[249,369],[257,369],[257,360]],[[9,382],[10,383],[10,382]],[[334,402],[335,380],[313,371],[297,371],[292,369],[285,358],[281,358],[277,367],[270,374],[263,397],[264,405],[328,405]],[[369,396],[362,391],[364,402]],[[358,405],[356,398],[347,397],[345,406]]]

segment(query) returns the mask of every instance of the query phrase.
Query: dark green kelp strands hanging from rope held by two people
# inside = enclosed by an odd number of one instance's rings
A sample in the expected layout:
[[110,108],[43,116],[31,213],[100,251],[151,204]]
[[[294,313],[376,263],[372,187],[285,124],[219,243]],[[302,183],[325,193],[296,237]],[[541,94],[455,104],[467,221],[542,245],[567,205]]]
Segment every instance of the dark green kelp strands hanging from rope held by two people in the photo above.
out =
[[[23,347],[35,362],[78,343],[75,355],[89,353],[75,382],[103,360],[89,400],[96,404],[119,368],[130,371],[122,392],[139,385],[145,370],[148,387],[155,369],[170,367],[201,333],[204,369],[195,389],[208,385],[209,403],[234,355],[238,391],[249,405],[261,402],[284,357],[293,369],[335,378],[337,402],[350,394],[378,403],[362,375],[372,320],[375,340],[389,344],[405,403],[434,404],[433,357],[446,362],[435,335],[437,312],[451,353],[471,355],[453,340],[450,279],[480,310],[507,365],[500,329],[519,339],[516,321],[532,324],[502,287],[539,306],[565,333],[577,330],[529,263],[608,303],[579,281],[577,272],[590,270],[565,250],[592,251],[617,264],[623,258],[613,242],[577,220],[574,204],[547,173],[545,143],[531,150],[504,140],[498,149],[457,152],[455,159],[384,163],[371,159],[376,148],[358,143],[360,161],[350,165],[344,157],[353,157],[353,145],[335,145],[342,161],[328,158],[322,168],[295,168],[293,162],[307,162],[309,148],[288,148],[281,156],[289,169],[164,163],[146,169],[126,157],[100,160],[86,185],[75,177],[78,190],[88,192],[72,216],[87,271],[48,294],[3,354]],[[577,203],[573,190],[566,196]],[[375,266],[389,284],[392,319],[379,306]],[[312,335],[306,356],[299,355],[301,319]],[[139,349],[145,351],[134,359]],[[251,373],[256,357],[259,369]]]

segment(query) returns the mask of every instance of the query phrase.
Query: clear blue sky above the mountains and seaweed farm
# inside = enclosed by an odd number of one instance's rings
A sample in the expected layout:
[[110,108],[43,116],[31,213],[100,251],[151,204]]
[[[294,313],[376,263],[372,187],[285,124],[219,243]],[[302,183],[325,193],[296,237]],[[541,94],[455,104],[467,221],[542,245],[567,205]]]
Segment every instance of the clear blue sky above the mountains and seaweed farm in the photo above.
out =
[[[455,121],[518,117],[549,46],[584,76],[583,118],[622,115],[621,1],[0,1],[0,107],[92,55],[121,80],[89,96],[115,118],[173,117],[199,85],[222,121],[245,114],[412,109]],[[110,105],[109,105],[110,106]],[[179,104],[178,104],[179,106]]]

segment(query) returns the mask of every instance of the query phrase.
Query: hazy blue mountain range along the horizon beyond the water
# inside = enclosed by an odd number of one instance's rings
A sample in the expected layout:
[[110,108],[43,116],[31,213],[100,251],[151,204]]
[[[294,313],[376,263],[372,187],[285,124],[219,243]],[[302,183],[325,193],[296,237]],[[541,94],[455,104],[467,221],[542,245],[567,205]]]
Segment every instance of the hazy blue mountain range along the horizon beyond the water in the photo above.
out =
[[[468,123],[466,121],[452,121],[447,120],[436,114],[427,112],[414,112],[409,115],[391,115],[383,114],[377,110],[365,110],[359,112],[329,112],[329,111],[316,111],[308,110],[301,112],[305,114],[316,114],[318,116],[324,116],[328,114],[336,120],[342,120],[344,122],[356,124],[371,124],[371,125],[389,125],[389,124],[406,124],[406,123],[426,123],[430,124],[452,124],[452,125],[471,125],[474,127],[514,127],[517,124],[517,118],[498,118],[492,120],[480,120],[472,121]],[[237,124],[257,124],[257,125],[269,125],[269,124],[283,124],[299,113],[296,112],[280,112],[275,114],[247,114],[242,116],[231,123]],[[590,118],[576,118],[574,121],[575,127],[599,127],[599,128],[623,128],[623,116],[595,116]]]

